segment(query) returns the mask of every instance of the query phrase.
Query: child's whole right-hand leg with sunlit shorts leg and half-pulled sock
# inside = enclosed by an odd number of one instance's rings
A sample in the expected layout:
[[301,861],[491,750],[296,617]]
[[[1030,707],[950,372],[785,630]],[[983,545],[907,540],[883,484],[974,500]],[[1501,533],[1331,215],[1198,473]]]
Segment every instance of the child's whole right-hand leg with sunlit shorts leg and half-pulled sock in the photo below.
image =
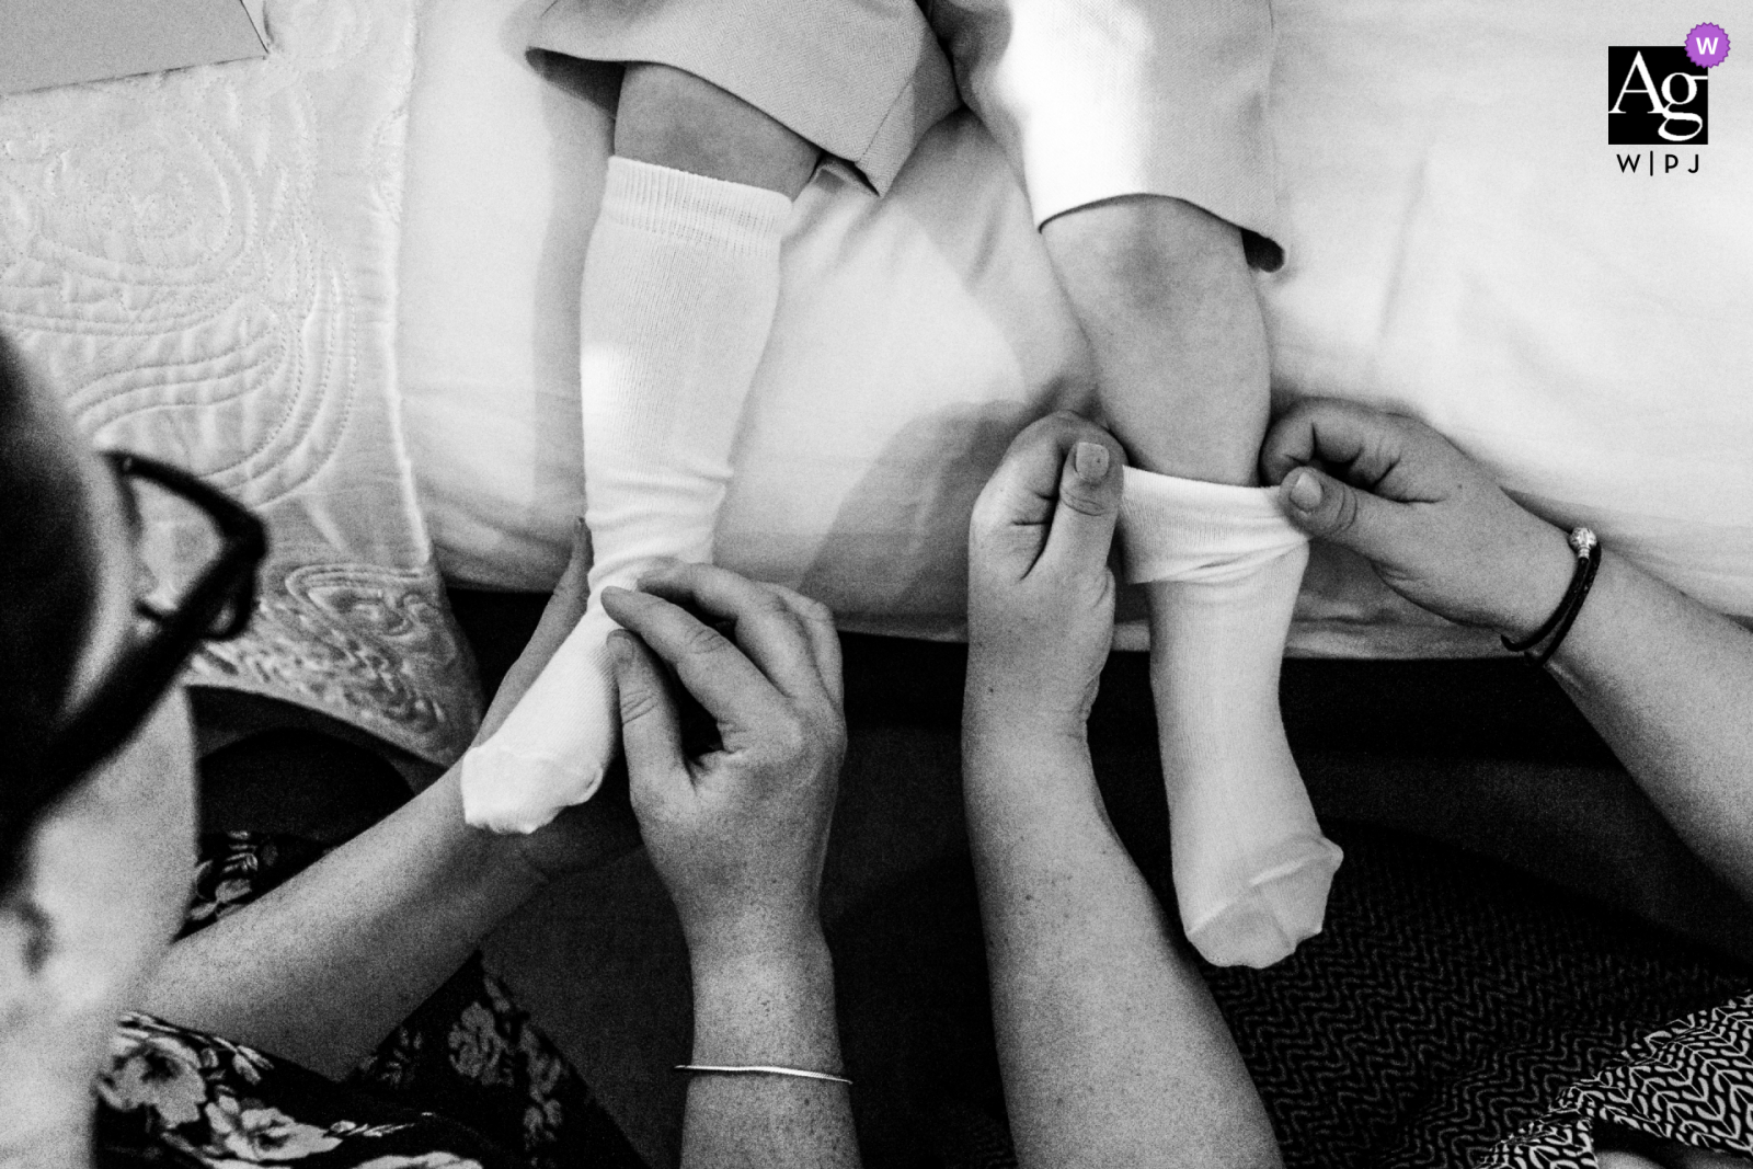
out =
[[[1320,929],[1339,852],[1278,713],[1306,563],[1252,487],[1269,412],[1243,224],[1273,230],[1264,0],[940,0],[962,91],[1022,172],[1127,447],[1182,922],[1220,964]],[[1271,249],[1271,245],[1267,245]]]

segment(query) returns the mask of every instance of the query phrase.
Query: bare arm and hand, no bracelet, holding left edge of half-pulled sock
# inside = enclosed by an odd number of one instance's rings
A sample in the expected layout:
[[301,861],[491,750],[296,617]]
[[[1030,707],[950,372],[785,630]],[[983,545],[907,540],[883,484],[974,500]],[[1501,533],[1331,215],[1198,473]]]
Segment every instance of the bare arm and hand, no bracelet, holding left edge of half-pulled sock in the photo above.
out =
[[1061,415],[1011,445],[969,536],[968,831],[1018,1160],[1276,1165],[1229,1029],[1090,769],[1118,501],[1113,440]]

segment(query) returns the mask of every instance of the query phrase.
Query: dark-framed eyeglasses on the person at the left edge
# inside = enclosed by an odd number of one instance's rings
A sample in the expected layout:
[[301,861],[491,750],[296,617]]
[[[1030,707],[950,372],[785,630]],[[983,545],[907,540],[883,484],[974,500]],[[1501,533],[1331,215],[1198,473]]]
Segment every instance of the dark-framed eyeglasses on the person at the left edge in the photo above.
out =
[[203,641],[244,633],[256,608],[256,570],[268,554],[261,521],[195,475],[138,454],[103,457],[126,487],[151,587],[135,603],[133,641],[56,729],[33,810],[133,738]]

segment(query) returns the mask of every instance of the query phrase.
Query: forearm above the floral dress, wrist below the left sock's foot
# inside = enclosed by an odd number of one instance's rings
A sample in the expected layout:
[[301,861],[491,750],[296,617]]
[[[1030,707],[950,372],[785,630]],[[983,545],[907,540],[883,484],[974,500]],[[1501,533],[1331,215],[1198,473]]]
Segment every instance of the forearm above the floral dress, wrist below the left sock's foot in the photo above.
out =
[[463,822],[456,771],[261,901],[179,941],[144,1010],[338,1078],[542,883]]

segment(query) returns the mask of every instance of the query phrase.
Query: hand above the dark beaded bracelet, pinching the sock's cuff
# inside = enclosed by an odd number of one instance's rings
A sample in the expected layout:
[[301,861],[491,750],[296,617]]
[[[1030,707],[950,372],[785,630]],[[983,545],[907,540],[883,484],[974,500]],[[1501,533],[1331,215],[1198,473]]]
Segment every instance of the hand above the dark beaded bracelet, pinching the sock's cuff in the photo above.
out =
[[1525,638],[1564,599],[1576,556],[1485,470],[1409,417],[1332,398],[1273,422],[1260,475],[1290,521],[1364,556],[1423,608]]

